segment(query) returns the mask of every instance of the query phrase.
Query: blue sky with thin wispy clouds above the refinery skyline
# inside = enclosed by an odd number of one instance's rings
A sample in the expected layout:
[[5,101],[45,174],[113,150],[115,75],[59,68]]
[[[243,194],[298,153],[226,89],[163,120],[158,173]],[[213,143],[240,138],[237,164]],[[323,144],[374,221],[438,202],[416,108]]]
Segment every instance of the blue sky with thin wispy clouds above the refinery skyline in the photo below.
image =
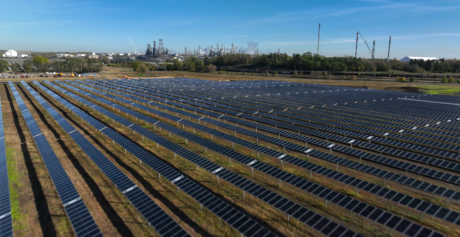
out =
[[[231,44],[259,53],[354,55],[356,32],[375,56],[460,58],[458,0],[2,1],[1,50],[144,52],[163,39],[174,52]],[[432,50],[432,51],[430,51]],[[370,57],[361,37],[358,56]]]

